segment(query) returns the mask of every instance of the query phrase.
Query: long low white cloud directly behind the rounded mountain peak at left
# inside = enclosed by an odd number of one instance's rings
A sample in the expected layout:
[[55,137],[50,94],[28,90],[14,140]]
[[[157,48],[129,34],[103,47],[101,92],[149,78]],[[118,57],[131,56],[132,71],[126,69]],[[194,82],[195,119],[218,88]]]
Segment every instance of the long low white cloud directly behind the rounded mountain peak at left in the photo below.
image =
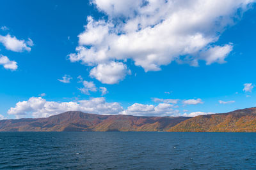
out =
[[104,97],[92,98],[78,102],[46,101],[42,97],[31,97],[28,101],[20,101],[15,108],[10,108],[8,114],[17,117],[49,117],[65,111],[83,111],[85,113],[96,113],[100,115],[118,114],[123,111],[119,103],[106,103]]

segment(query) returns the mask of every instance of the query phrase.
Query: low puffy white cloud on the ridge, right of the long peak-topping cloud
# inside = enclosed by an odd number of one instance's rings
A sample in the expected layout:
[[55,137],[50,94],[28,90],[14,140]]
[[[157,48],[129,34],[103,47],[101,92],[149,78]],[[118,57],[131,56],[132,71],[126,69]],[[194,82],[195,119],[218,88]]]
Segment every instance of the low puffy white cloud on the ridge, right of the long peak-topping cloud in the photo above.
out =
[[168,103],[159,103],[157,106],[152,104],[134,103],[122,111],[122,115],[134,116],[174,116],[179,113],[179,110],[173,110],[173,105]]

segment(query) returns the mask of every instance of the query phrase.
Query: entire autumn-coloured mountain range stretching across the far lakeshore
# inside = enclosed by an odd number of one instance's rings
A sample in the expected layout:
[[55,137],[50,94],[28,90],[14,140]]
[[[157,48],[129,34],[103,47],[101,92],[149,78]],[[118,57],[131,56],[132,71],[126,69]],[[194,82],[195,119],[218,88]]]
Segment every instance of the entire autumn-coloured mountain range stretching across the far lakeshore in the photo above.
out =
[[135,117],[67,111],[48,118],[0,120],[0,131],[256,132],[256,108],[197,117]]

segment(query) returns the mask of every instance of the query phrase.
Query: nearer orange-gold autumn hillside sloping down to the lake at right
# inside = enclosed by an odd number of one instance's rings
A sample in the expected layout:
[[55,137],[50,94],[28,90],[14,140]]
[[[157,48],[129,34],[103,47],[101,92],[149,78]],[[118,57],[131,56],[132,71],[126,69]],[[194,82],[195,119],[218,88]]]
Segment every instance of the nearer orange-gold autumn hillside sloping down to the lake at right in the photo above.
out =
[[170,132],[256,132],[256,108],[201,115],[171,127]]

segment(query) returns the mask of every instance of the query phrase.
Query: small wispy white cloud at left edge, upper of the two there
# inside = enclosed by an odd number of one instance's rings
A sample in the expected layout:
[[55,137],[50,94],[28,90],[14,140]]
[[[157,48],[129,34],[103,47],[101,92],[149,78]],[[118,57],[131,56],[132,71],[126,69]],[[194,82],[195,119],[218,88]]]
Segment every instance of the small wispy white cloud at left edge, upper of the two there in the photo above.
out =
[[25,42],[15,36],[10,36],[10,34],[6,36],[0,35],[0,42],[3,43],[7,50],[12,50],[13,52],[23,52],[24,50],[30,52],[31,48],[29,46],[33,46],[33,41],[30,38]]

